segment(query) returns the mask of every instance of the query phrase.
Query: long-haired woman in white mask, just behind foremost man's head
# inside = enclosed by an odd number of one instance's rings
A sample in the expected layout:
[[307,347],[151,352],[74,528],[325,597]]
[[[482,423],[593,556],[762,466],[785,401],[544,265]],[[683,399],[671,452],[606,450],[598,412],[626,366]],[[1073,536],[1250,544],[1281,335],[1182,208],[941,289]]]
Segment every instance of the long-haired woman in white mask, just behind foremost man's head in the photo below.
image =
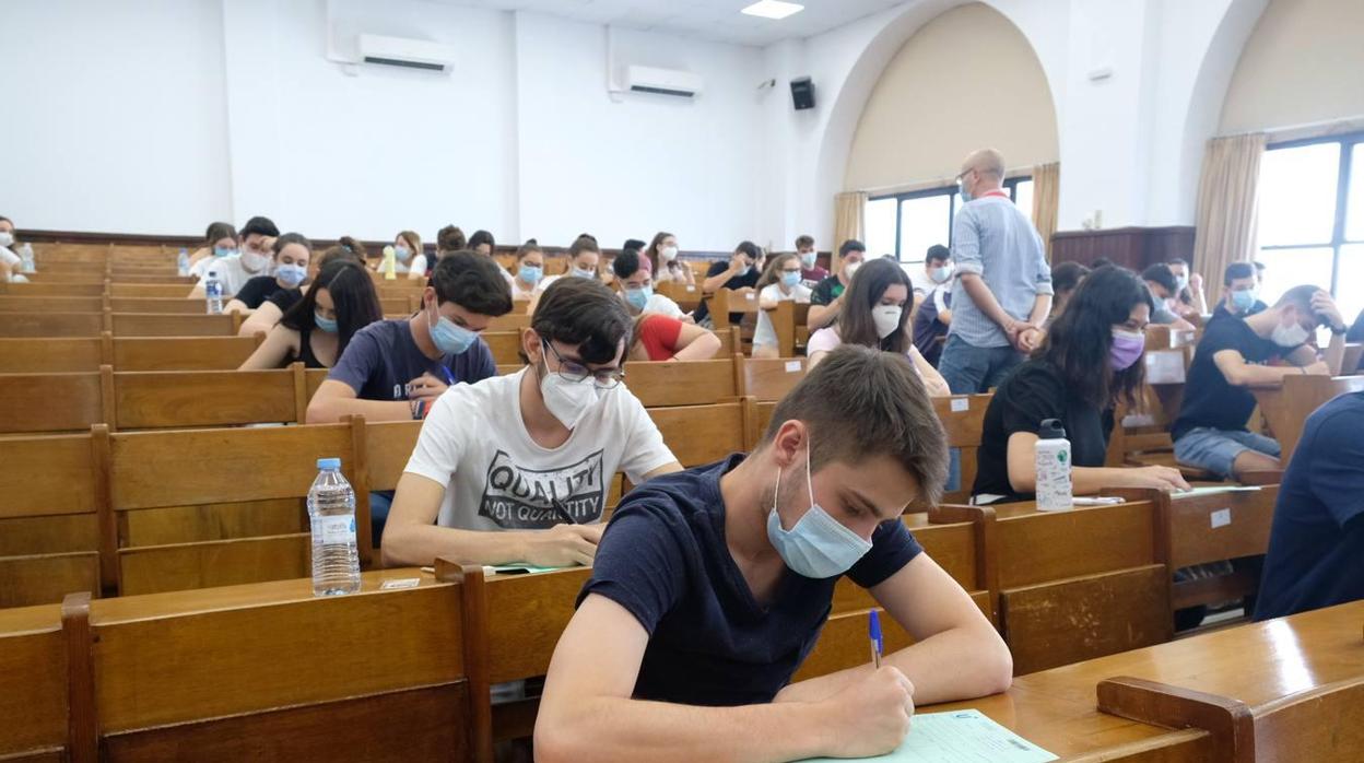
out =
[[810,334],[805,351],[813,369],[840,344],[861,344],[904,355],[914,363],[929,394],[951,394],[947,381],[914,347],[910,304],[914,284],[899,263],[878,258],[865,262],[843,295],[835,325]]

